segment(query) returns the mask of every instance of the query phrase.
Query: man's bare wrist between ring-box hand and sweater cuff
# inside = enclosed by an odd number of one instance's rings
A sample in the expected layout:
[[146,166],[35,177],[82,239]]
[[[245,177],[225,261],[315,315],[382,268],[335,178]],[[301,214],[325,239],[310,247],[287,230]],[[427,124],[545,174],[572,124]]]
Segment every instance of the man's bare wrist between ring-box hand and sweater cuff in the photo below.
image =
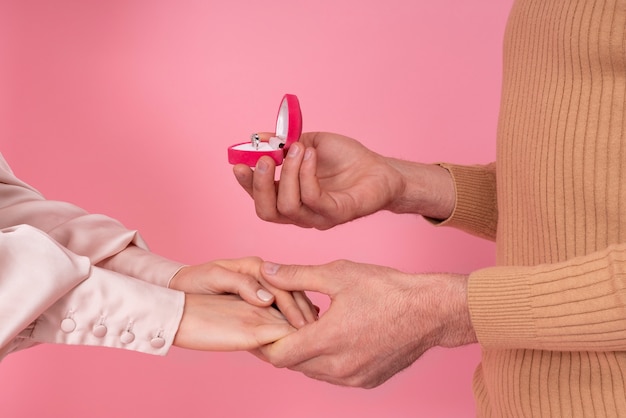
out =
[[435,164],[388,158],[390,167],[402,178],[398,196],[386,207],[393,213],[415,213],[447,219],[454,210],[456,192],[450,172]]

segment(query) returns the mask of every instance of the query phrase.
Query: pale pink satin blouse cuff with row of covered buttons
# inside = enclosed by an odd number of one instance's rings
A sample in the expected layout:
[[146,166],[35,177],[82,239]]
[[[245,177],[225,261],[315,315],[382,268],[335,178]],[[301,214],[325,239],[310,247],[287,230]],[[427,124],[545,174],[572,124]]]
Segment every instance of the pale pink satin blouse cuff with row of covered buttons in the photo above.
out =
[[93,267],[87,280],[37,319],[31,339],[165,355],[184,304],[183,292]]

